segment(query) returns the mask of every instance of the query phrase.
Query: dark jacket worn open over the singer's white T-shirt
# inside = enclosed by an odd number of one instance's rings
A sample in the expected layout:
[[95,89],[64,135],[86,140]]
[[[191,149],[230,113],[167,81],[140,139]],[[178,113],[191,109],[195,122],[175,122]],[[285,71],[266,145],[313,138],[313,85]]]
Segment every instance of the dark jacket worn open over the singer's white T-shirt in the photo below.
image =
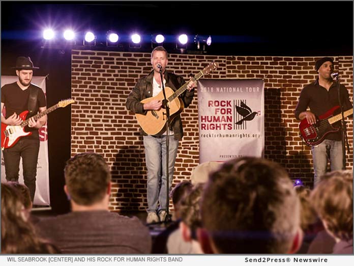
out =
[[[138,80],[135,87],[129,94],[126,101],[126,107],[128,110],[134,112],[134,114],[146,114],[147,111],[143,110],[143,104],[140,101],[153,96],[153,78],[154,71],[151,71],[149,75]],[[171,88],[173,91],[178,90],[183,84],[186,83],[182,76],[167,71],[164,73],[164,78],[166,80],[165,86]],[[186,90],[180,95],[185,107],[188,107],[188,105],[192,102],[193,96],[194,90]],[[173,119],[171,128],[173,130],[174,139],[181,140],[183,137],[183,128],[180,115]],[[142,135],[147,136],[141,128],[140,132]]]

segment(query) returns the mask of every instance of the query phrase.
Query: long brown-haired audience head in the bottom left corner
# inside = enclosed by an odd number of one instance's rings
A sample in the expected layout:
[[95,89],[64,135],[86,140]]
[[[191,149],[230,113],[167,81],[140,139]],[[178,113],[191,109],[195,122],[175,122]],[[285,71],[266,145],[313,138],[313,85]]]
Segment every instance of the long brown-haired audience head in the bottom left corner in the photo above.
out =
[[34,227],[27,220],[19,191],[7,183],[1,183],[1,253],[60,253],[55,246],[37,237]]

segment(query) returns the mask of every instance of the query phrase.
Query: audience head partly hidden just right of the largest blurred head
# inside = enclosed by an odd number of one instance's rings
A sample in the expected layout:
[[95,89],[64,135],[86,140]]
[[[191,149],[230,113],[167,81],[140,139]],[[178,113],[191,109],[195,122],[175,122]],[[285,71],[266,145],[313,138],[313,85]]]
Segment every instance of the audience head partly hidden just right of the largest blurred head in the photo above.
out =
[[310,193],[311,190],[304,187],[304,185],[296,185],[294,187],[296,194],[300,200],[300,221],[301,228],[307,230],[310,225],[313,225],[317,222],[317,214],[312,204],[310,202]]

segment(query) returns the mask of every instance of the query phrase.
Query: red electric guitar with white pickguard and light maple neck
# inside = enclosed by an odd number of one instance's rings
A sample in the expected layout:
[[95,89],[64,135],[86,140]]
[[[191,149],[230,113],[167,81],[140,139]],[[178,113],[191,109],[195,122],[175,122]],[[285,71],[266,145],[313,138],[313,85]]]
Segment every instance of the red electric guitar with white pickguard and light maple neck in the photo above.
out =
[[[33,116],[33,118],[37,121],[42,116],[49,114],[50,112],[60,108],[66,107],[68,104],[75,102],[72,99],[62,100],[52,107],[46,109],[45,111]],[[32,135],[32,132],[24,131],[24,127],[28,125],[28,121],[30,119],[24,120],[28,114],[28,111],[23,111],[19,116],[23,120],[20,125],[7,125],[1,123],[1,149],[7,149],[16,144],[21,137]]]

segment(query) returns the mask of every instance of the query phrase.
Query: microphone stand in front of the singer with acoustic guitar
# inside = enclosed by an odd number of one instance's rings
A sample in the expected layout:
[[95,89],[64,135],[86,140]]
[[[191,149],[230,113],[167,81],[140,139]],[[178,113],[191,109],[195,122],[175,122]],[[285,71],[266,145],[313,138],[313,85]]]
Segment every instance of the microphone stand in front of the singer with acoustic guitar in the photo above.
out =
[[167,222],[171,221],[171,216],[169,214],[169,167],[168,167],[168,162],[169,162],[168,155],[169,155],[169,120],[170,120],[170,114],[169,114],[168,101],[166,99],[165,85],[163,84],[162,67],[159,67],[159,68],[160,68],[162,93],[163,93],[163,97],[164,97],[164,100],[162,101],[162,107],[165,108],[165,110],[166,110],[166,113],[163,113],[164,115],[166,115],[166,217],[165,217],[164,221],[160,221],[160,222],[167,223]]

